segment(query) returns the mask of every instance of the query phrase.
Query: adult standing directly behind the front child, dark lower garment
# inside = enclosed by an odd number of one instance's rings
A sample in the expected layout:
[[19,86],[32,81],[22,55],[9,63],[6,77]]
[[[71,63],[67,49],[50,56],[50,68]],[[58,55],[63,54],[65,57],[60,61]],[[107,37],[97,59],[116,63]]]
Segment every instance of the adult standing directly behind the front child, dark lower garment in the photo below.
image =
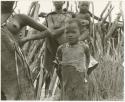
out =
[[[46,23],[48,28],[51,30],[59,30],[60,33],[56,33],[52,37],[46,38],[46,48],[45,48],[45,59],[44,59],[44,67],[48,71],[48,78],[46,79],[46,95],[48,94],[49,82],[53,76],[54,71],[54,63],[56,56],[57,48],[60,44],[66,41],[64,34],[64,26],[65,22],[72,18],[72,15],[63,11],[64,1],[53,1],[53,5],[55,7],[55,11],[49,13],[46,17]],[[48,82],[47,82],[48,81]],[[51,90],[50,90],[51,91]],[[51,92],[50,92],[51,93]]]

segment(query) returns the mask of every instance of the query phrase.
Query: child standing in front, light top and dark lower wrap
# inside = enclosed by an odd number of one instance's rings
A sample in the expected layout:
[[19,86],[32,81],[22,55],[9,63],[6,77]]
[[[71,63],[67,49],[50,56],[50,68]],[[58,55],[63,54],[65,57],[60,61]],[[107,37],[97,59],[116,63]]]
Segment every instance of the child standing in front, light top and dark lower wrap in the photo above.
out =
[[81,34],[81,23],[78,19],[71,19],[66,24],[67,43],[57,50],[57,60],[62,68],[62,99],[87,99],[87,68],[89,64],[88,47],[78,41]]

